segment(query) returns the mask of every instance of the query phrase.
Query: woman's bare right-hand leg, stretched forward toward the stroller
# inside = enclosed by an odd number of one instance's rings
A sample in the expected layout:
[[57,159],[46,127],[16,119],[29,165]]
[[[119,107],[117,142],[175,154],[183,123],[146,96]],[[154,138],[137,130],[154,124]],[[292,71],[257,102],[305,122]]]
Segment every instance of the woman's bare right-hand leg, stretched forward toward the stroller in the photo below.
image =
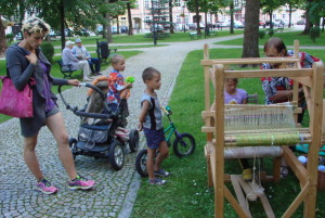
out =
[[47,118],[47,126],[53,133],[58,149],[58,156],[70,180],[76,179],[77,171],[73,153],[68,145],[68,134],[61,113]]

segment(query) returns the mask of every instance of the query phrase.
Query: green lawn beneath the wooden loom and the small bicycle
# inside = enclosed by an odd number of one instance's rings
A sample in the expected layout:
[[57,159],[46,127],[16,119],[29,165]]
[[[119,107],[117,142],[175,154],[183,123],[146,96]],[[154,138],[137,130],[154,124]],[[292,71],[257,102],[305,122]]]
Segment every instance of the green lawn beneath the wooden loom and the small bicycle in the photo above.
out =
[[[318,51],[307,51],[325,60],[325,54]],[[211,59],[240,57],[242,49],[212,49]],[[213,217],[213,189],[207,187],[207,169],[204,156],[206,136],[202,133],[204,110],[204,69],[199,65],[203,51],[193,51],[185,59],[169,105],[173,111],[172,119],[181,132],[190,132],[196,139],[196,151],[192,156],[178,158],[172,149],[170,156],[162,164],[171,171],[165,187],[152,187],[147,179],[142,179],[141,189],[132,210],[132,218],[170,218],[170,217]],[[259,79],[240,79],[238,88],[248,93],[257,92],[259,103],[263,103],[263,92]],[[167,120],[165,120],[167,124]],[[265,170],[271,174],[272,159],[264,158]],[[225,171],[240,174],[238,162],[225,162]],[[281,217],[300,191],[299,183],[292,172],[280,183],[263,183],[265,193],[276,217]],[[230,184],[230,190],[233,192]],[[316,217],[325,217],[325,194],[317,194]],[[259,202],[249,203],[252,217],[266,217]],[[235,218],[231,205],[225,202],[224,217]],[[302,207],[294,214],[295,218],[303,217]]]

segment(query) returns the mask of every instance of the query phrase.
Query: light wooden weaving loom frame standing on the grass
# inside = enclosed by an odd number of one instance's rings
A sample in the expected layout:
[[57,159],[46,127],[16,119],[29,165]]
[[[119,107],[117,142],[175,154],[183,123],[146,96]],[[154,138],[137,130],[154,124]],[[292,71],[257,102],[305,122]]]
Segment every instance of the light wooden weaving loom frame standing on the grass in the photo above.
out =
[[[291,217],[297,210],[301,203],[304,203],[303,217],[313,218],[315,216],[315,203],[316,203],[316,182],[317,182],[317,159],[318,150],[322,144],[322,114],[323,114],[323,64],[314,63],[313,68],[307,69],[301,68],[299,60],[299,42],[295,41],[295,56],[294,57],[265,57],[265,59],[231,59],[231,60],[209,60],[208,47],[205,44],[205,59],[202,61],[202,65],[205,67],[205,111],[203,112],[203,118],[205,126],[203,132],[207,134],[207,144],[205,146],[205,154],[207,157],[208,165],[208,184],[214,187],[214,217],[223,217],[223,205],[224,197],[233,206],[234,210],[239,217],[251,217],[245,196],[239,190],[238,183],[242,183],[242,188],[250,189],[259,197],[263,204],[268,217],[275,217],[271,205],[263,192],[253,184],[246,185],[243,183],[240,176],[224,174],[224,158],[226,158],[225,146],[229,145],[226,137],[230,134],[224,131],[224,79],[225,78],[260,78],[260,77],[290,77],[295,79],[294,84],[294,97],[292,101],[298,102],[298,82],[303,87],[308,108],[310,113],[310,125],[309,128],[299,128],[298,132],[303,133],[310,144],[310,151],[308,154],[308,166],[307,168],[298,162],[295,154],[288,146],[272,146],[277,148],[275,152],[274,171],[273,177],[264,177],[265,179],[278,181],[280,180],[280,166],[281,157],[283,156],[288,163],[297,176],[301,191],[296,196],[295,201],[289,205],[286,211],[283,214],[284,218]],[[262,64],[262,63],[294,63],[294,68],[283,69],[250,69],[250,70],[226,70],[226,65],[231,64]],[[210,82],[214,87],[214,93],[210,93]],[[211,99],[214,98],[214,102],[218,105],[214,108],[211,107]],[[213,102],[213,104],[214,104]],[[261,105],[268,107],[268,105]],[[296,110],[299,113],[299,110]],[[296,115],[295,115],[296,116]],[[297,116],[296,116],[297,120]],[[323,121],[324,124],[324,121]],[[323,127],[323,129],[325,129]],[[284,132],[285,130],[282,130]],[[232,137],[236,138],[236,132],[231,133]],[[251,132],[247,136],[252,134]],[[303,140],[302,140],[303,141]],[[288,145],[288,144],[287,144]],[[292,144],[295,145],[295,144]],[[262,156],[270,156],[271,146],[261,148]],[[271,148],[271,149],[272,149]],[[237,148],[235,148],[237,149]],[[239,148],[246,149],[246,148]],[[264,149],[264,150],[263,150]],[[262,154],[264,153],[264,154]],[[234,157],[234,156],[233,156]],[[240,156],[253,157],[253,156]],[[229,189],[224,185],[224,181],[231,180],[237,200],[232,195]],[[249,192],[249,191],[248,191]],[[246,192],[247,193],[247,192]],[[247,196],[247,198],[255,198],[253,196]]]

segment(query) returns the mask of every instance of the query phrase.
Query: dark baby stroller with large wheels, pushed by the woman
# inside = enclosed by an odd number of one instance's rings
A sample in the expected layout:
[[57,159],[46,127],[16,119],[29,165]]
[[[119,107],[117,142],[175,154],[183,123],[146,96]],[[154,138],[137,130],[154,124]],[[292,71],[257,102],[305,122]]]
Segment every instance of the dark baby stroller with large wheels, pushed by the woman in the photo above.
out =
[[72,107],[63,98],[61,86],[60,97],[67,110],[70,110],[81,118],[78,138],[70,138],[68,143],[74,158],[77,155],[93,156],[94,158],[107,158],[116,170],[122,168],[125,163],[125,148],[129,144],[131,152],[139,146],[139,132],[123,129],[127,120],[122,106],[118,105],[113,112],[106,104],[106,81],[100,81],[95,87],[89,84],[80,84],[94,90],[89,97],[88,103],[82,110]]

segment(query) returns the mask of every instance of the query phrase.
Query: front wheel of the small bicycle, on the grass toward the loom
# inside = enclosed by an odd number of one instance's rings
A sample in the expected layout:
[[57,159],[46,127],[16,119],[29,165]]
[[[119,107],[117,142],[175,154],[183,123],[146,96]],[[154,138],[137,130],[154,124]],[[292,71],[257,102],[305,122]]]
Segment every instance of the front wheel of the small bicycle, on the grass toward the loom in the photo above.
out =
[[195,139],[192,134],[183,132],[176,134],[173,141],[173,153],[179,157],[188,156],[195,150]]

